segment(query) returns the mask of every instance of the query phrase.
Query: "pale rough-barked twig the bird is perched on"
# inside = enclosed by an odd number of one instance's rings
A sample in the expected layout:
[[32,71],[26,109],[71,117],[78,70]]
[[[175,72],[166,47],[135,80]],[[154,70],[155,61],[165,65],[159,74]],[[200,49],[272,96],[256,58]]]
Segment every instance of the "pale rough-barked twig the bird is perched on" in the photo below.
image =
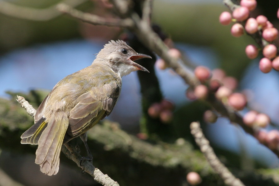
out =
[[[22,96],[17,96],[17,101],[19,102],[20,106],[23,107],[26,112],[34,118],[36,110],[33,108],[32,105],[29,104],[28,101],[24,99]],[[62,152],[73,162],[75,162],[82,170],[87,172],[91,175],[95,181],[102,185],[109,185],[109,186],[119,186],[119,184],[111,179],[108,175],[104,175],[98,168],[95,168],[93,164],[89,161],[85,161],[80,165],[82,156],[76,153],[75,149],[71,147],[68,143],[64,144],[61,148]]]

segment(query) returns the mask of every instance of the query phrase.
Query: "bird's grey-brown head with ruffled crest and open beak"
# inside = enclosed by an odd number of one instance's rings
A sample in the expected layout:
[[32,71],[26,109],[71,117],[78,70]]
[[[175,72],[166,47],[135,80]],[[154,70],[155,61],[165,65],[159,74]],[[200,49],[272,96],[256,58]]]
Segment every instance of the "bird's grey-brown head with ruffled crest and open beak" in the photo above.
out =
[[134,61],[142,58],[151,59],[149,55],[137,53],[122,40],[108,42],[96,58],[108,62],[115,72],[120,73],[121,77],[136,70],[148,72],[147,69]]

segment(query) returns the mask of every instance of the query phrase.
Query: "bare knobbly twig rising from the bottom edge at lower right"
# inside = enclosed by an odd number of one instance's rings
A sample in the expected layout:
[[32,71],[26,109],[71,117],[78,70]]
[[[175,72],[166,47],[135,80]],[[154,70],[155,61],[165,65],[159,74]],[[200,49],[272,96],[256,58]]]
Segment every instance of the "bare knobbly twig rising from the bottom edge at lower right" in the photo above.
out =
[[245,186],[240,179],[236,178],[228,170],[226,166],[216,156],[209,141],[203,135],[200,124],[198,122],[192,122],[190,125],[191,134],[194,136],[197,145],[200,147],[201,152],[206,157],[210,166],[219,174],[219,176],[224,180],[225,184],[230,186]]

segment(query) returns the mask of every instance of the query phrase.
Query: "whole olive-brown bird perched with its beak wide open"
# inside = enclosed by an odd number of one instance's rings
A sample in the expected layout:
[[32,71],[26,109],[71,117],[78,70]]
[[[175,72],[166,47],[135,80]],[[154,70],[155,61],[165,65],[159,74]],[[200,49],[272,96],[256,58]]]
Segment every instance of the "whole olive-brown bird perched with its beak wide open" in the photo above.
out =
[[21,135],[22,144],[38,144],[35,163],[47,175],[59,169],[61,146],[80,136],[88,149],[86,132],[108,116],[121,91],[121,77],[147,69],[134,62],[149,55],[138,54],[126,42],[110,41],[93,63],[58,82],[42,101],[35,124]]

